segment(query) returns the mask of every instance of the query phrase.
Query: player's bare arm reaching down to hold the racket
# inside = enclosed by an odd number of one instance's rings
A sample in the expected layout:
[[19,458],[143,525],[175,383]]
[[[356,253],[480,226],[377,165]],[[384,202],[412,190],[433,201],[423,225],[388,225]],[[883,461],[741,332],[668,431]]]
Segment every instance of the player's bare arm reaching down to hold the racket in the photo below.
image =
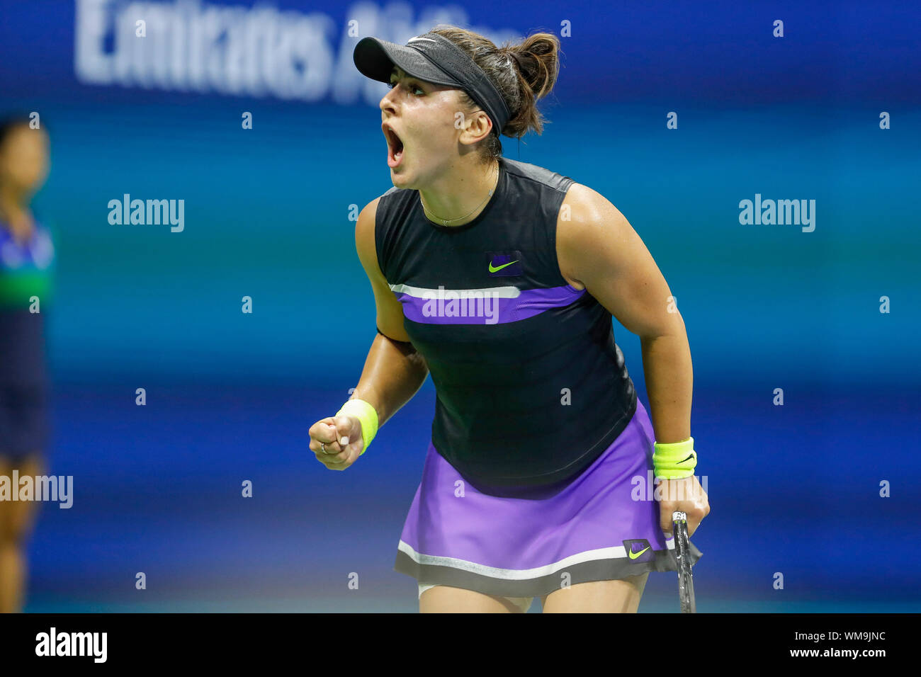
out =
[[[656,441],[690,438],[691,348],[671,290],[643,240],[603,195],[574,183],[557,218],[556,253],[561,273],[585,286],[639,336]],[[692,519],[696,528],[709,506],[705,498],[698,508],[681,503],[679,509],[689,508],[688,531],[693,531]],[[664,503],[662,508],[663,529],[670,531],[670,511]]]

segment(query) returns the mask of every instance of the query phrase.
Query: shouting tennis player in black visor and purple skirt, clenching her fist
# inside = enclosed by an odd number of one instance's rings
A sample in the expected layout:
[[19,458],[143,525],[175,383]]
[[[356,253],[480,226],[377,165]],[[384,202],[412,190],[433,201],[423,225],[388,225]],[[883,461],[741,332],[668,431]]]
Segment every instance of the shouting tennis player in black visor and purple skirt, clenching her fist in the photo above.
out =
[[[356,45],[358,70],[391,83],[393,188],[356,224],[378,335],[309,448],[348,468],[432,375],[394,567],[417,579],[424,613],[518,613],[538,596],[544,612],[635,612],[648,572],[676,570],[672,510],[692,533],[709,512],[690,349],[656,263],[599,193],[501,155],[500,132],[542,132],[535,100],[558,49],[548,33],[497,48],[452,26]],[[641,338],[651,421],[612,314]],[[641,487],[653,469],[659,501]]]

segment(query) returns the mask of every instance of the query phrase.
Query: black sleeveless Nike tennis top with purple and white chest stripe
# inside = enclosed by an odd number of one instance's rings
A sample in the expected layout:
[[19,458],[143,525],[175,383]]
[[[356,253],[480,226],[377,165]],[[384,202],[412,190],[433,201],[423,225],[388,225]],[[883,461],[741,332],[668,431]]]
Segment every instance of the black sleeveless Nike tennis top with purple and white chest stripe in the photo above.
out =
[[568,483],[636,409],[611,313],[557,263],[572,183],[499,158],[495,194],[470,223],[432,223],[414,190],[378,204],[380,270],[437,392],[432,445],[484,493]]

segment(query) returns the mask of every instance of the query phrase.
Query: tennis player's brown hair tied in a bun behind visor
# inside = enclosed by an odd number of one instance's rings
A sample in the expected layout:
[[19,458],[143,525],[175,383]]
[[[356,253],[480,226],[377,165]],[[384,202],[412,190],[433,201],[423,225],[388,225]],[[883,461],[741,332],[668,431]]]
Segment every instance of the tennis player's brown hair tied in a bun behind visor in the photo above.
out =
[[[533,129],[542,134],[546,122],[537,110],[542,99],[554,88],[559,72],[560,41],[553,33],[534,33],[518,44],[510,41],[496,47],[479,33],[439,25],[431,32],[452,41],[480,66],[504,99],[511,117],[502,134],[521,137]],[[476,110],[478,106],[461,90],[461,104]],[[480,158],[488,161],[502,155],[498,134],[489,134],[480,142]]]

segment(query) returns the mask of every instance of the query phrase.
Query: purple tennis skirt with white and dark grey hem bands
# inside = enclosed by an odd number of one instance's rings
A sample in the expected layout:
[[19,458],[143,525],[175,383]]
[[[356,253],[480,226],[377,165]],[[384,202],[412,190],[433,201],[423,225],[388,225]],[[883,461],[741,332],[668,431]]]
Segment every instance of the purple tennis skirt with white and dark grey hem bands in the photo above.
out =
[[[647,486],[654,439],[637,400],[624,432],[584,473],[538,498],[484,494],[429,444],[393,568],[419,584],[500,597],[676,571],[674,540]],[[701,554],[691,543],[692,563]]]

